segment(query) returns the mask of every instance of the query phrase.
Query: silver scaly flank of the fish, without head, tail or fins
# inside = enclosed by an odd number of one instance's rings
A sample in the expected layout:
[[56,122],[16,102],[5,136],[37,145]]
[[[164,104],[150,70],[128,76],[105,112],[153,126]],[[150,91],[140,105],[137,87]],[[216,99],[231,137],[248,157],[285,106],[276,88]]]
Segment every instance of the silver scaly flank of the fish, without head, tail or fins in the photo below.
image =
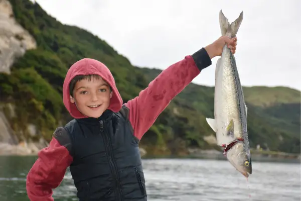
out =
[[215,86],[215,94],[220,94],[215,101],[215,112],[221,111],[220,114],[215,114],[215,117],[217,128],[222,128],[222,131],[217,132],[222,132],[223,135],[226,135],[226,128],[232,119],[234,122],[235,136],[231,136],[232,140],[242,137],[246,145],[245,148],[247,148],[247,118],[242,87],[235,58],[226,46],[224,47],[219,65],[216,68],[215,78],[222,79],[216,82]]

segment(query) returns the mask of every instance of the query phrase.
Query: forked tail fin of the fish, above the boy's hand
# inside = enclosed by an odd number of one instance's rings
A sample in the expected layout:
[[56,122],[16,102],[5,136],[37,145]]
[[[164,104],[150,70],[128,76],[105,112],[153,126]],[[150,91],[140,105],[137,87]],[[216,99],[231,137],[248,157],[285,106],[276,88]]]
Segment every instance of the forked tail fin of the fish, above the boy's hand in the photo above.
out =
[[242,19],[243,19],[243,11],[240,13],[239,17],[230,25],[228,19],[225,17],[225,15],[221,10],[219,15],[219,21],[220,21],[222,36],[229,36],[231,38],[235,37],[241,25]]

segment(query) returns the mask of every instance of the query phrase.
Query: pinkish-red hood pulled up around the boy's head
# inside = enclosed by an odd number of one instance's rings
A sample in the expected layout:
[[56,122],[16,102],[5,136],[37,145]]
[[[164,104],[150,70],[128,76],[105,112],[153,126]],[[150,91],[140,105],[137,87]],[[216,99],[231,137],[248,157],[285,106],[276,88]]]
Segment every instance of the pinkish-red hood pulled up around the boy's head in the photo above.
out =
[[110,99],[110,105],[108,110],[113,112],[118,112],[122,107],[122,98],[116,87],[114,77],[110,70],[100,61],[95,59],[84,58],[75,62],[68,70],[64,84],[63,84],[63,102],[73,118],[86,118],[82,113],[80,113],[75,106],[70,102],[70,90],[69,84],[71,80],[77,75],[88,75],[96,74],[101,76],[112,88],[112,97]]

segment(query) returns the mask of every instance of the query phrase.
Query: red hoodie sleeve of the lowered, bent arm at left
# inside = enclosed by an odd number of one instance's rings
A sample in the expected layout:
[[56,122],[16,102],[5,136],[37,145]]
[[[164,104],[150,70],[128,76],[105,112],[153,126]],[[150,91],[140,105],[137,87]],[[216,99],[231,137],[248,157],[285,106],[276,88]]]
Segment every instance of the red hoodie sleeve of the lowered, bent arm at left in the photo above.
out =
[[26,190],[31,201],[53,201],[53,188],[59,186],[72,162],[70,138],[62,127],[56,129],[48,147],[41,149],[39,158],[30,169]]

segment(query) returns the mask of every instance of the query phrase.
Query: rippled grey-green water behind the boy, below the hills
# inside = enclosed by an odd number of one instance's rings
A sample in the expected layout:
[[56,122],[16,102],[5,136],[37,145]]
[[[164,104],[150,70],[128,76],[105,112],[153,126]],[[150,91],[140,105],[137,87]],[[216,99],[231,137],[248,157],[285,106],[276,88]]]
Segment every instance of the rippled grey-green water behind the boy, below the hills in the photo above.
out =
[[[0,156],[0,200],[29,200],[26,175],[33,156]],[[248,181],[223,160],[144,159],[148,200],[301,200],[300,164],[253,162]],[[78,200],[69,170],[56,201]],[[249,198],[249,195],[251,196]]]

